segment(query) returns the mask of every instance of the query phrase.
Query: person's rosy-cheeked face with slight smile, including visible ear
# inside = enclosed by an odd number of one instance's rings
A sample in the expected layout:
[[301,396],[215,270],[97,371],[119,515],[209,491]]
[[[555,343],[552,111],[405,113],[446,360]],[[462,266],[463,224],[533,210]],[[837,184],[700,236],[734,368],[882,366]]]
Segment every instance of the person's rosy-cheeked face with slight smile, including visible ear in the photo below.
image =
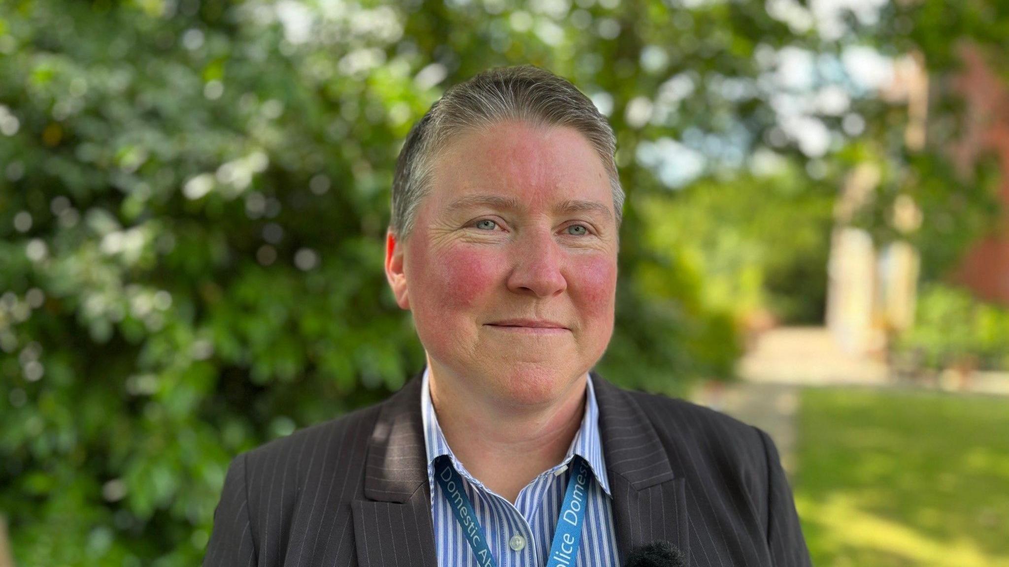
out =
[[609,180],[567,127],[501,122],[451,142],[386,272],[435,375],[544,403],[602,356],[613,329]]

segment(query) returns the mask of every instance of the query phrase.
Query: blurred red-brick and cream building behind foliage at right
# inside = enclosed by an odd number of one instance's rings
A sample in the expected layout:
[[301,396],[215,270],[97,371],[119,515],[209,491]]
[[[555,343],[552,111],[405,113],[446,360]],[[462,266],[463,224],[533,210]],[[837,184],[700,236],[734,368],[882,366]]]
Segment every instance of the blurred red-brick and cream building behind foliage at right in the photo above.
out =
[[[976,46],[965,44],[961,56],[964,68],[952,85],[966,103],[966,115],[963,135],[950,154],[967,179],[978,159],[991,153],[997,155],[1000,171],[1009,173],[1009,88]],[[907,105],[904,143],[912,151],[923,147],[928,75],[920,55],[894,63],[893,81],[881,96]],[[872,201],[879,182],[876,165],[860,164],[849,175],[834,210],[826,326],[849,354],[882,356],[887,338],[914,322],[918,252],[901,240],[881,247],[867,231],[852,226],[859,209]],[[1009,306],[1009,176],[1003,176],[999,198],[1004,206],[996,230],[969,249],[950,279],[979,299]],[[910,234],[922,222],[907,195],[896,199],[891,213],[898,233]]]

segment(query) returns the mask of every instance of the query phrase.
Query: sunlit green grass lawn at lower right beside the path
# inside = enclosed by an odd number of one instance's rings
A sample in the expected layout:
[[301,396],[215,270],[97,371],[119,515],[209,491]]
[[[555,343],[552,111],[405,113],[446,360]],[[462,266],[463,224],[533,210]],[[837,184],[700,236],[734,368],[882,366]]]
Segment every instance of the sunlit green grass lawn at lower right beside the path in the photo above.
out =
[[801,393],[796,507],[817,567],[1009,567],[1009,399]]

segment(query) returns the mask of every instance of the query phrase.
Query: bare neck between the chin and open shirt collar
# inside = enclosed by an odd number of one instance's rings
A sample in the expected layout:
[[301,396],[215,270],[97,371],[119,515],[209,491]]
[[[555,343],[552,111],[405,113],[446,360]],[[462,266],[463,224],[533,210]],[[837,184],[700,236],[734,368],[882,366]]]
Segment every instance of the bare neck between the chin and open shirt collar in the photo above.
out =
[[469,391],[429,364],[431,402],[445,441],[474,478],[515,502],[543,471],[560,464],[581,427],[585,378],[541,405],[515,405]]

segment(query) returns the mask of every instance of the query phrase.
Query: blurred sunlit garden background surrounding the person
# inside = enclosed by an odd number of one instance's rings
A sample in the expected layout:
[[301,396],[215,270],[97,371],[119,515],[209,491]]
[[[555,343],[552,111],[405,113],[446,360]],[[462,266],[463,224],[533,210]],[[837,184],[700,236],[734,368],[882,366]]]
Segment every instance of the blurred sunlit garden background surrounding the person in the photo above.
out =
[[1009,565],[1007,37],[995,0],[5,0],[0,565],[198,564],[234,455],[419,371],[395,159],[526,63],[619,136],[597,370],[772,433],[816,565]]

